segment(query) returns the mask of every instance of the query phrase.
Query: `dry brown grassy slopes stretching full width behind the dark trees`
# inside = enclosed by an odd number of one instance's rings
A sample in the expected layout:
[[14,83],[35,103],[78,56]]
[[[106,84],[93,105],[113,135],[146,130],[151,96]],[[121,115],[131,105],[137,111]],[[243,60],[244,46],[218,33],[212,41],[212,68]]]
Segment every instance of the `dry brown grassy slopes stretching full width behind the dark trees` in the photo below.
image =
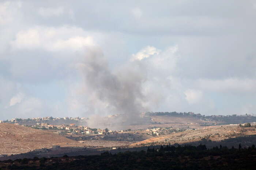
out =
[[[195,123],[195,122],[194,122]],[[168,124],[166,124],[167,126]],[[163,124],[161,124],[163,126]],[[169,124],[170,126],[170,124]],[[178,125],[177,125],[178,126]],[[191,128],[191,126],[190,126]],[[197,128],[197,129],[196,129]],[[237,125],[205,126],[197,125],[195,130],[152,137],[147,131],[131,131],[129,133],[142,136],[144,141],[108,141],[108,140],[84,140],[74,141],[59,134],[47,130],[37,130],[30,127],[19,126],[10,123],[0,123],[0,154],[20,154],[41,148],[51,148],[53,145],[61,147],[136,147],[140,145],[188,143],[200,141],[203,138],[212,141],[221,141],[230,137],[256,134],[255,128],[241,128]],[[128,132],[127,132],[128,133]],[[104,136],[102,135],[102,138]],[[143,139],[142,139],[143,140]]]

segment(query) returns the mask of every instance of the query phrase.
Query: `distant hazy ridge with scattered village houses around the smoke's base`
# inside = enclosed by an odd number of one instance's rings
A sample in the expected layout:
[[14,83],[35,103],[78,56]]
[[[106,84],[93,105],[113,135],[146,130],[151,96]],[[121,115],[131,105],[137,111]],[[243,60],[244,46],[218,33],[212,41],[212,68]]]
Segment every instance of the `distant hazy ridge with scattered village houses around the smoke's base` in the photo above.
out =
[[[119,114],[109,115],[108,119],[118,118]],[[132,130],[140,130],[144,135],[158,137],[186,130],[195,130],[200,126],[212,126],[221,124],[241,124],[255,122],[253,114],[245,115],[211,115],[205,116],[194,114],[193,112],[146,112],[140,114],[142,119],[150,120],[140,127],[127,126],[123,130],[113,130],[108,128],[92,128],[86,126],[89,118],[85,117],[63,117],[53,118],[52,116],[36,118],[12,118],[11,120],[0,120],[0,123],[12,123],[31,127],[39,130],[49,130],[60,135],[109,135],[131,133]],[[183,121],[183,122],[182,122]],[[176,123],[179,122],[179,123]],[[133,128],[134,127],[134,128]],[[135,131],[134,131],[135,133]]]

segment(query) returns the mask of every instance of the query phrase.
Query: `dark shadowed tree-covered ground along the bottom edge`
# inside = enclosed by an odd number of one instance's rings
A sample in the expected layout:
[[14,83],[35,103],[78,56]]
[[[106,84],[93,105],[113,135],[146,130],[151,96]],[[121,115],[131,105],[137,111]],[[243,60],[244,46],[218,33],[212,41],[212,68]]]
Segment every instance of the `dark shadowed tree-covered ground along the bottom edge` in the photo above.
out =
[[173,169],[173,170],[251,170],[255,169],[256,148],[252,145],[238,149],[205,145],[167,145],[148,147],[147,151],[126,151],[117,154],[61,158],[16,159],[1,161],[1,169]]

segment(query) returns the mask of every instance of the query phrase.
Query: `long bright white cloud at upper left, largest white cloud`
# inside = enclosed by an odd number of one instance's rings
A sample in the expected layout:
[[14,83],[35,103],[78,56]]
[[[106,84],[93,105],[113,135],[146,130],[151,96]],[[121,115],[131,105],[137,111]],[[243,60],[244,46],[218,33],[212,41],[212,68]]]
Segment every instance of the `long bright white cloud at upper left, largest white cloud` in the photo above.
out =
[[[78,36],[79,35],[79,36]],[[83,50],[94,46],[93,36],[77,27],[35,27],[19,31],[11,46],[14,49],[42,48],[46,51]]]

